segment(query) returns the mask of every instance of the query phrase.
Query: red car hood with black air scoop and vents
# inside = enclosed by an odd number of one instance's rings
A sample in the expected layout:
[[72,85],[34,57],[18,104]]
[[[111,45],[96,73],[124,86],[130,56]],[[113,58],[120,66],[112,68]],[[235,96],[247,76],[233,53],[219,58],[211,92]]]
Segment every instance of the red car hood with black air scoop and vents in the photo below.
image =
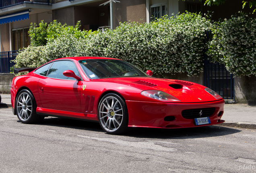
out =
[[[115,82],[126,84],[131,87],[136,87],[145,90],[158,90],[174,96],[183,103],[198,103],[217,101],[215,97],[209,94],[204,89],[206,87],[184,80],[161,79],[151,77],[123,77],[123,78],[103,78],[93,81]],[[221,98],[222,99],[222,98]],[[221,100],[218,99],[218,100]]]

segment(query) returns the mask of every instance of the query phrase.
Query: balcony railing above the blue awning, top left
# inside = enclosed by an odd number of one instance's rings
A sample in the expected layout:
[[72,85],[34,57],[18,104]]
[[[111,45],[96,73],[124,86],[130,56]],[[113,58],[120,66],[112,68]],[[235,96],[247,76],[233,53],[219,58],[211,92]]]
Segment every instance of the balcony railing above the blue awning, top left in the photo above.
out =
[[0,0],[0,9],[15,6],[19,4],[40,4],[40,5],[52,5],[53,0]]

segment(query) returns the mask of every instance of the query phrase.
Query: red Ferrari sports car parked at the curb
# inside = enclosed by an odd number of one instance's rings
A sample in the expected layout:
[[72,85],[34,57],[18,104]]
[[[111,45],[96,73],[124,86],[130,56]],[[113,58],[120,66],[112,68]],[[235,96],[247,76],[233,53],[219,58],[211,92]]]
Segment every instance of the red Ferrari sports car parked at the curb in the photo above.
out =
[[200,84],[151,77],[115,58],[70,57],[14,77],[11,101],[22,123],[47,116],[98,121],[109,134],[129,127],[185,128],[223,123],[223,98]]

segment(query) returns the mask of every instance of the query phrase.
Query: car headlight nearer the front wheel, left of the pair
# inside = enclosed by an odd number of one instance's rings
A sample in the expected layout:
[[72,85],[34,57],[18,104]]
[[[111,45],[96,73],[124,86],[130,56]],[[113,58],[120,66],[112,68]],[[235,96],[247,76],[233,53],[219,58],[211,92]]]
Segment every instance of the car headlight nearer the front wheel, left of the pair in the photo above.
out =
[[149,97],[151,99],[159,100],[159,101],[169,101],[169,102],[180,101],[179,99],[176,99],[175,97],[167,93],[164,93],[162,91],[157,91],[157,90],[142,91],[140,94],[146,97]]

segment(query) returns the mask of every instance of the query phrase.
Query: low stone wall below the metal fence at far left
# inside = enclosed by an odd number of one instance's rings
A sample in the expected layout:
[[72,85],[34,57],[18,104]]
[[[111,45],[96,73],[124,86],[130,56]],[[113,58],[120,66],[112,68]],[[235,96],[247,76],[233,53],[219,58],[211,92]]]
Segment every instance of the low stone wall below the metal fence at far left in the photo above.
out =
[[12,73],[0,73],[0,94],[10,94],[12,78]]

